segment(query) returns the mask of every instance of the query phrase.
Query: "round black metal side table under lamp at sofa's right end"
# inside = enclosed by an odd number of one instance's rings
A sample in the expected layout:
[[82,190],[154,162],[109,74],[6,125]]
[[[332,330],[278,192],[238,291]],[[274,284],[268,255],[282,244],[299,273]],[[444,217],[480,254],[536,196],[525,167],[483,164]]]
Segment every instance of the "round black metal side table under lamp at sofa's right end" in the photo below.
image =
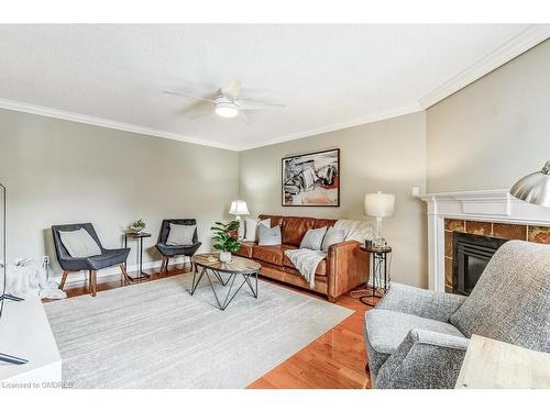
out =
[[[369,298],[383,298],[384,293],[387,291],[389,286],[389,269],[388,269],[388,255],[392,253],[391,246],[361,246],[361,250],[366,252],[372,257],[372,288],[369,288],[369,283],[365,283],[365,287],[360,290],[353,290],[351,296],[353,298],[359,298],[359,300],[366,304],[367,307],[375,307],[376,303],[371,303],[366,301]],[[381,289],[382,293],[376,293],[377,290]]]

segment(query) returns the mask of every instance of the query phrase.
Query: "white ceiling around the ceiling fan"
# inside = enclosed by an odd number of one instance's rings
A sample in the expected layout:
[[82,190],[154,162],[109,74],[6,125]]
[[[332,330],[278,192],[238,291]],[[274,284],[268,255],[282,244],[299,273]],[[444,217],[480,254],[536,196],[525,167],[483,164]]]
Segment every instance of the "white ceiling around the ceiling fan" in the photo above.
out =
[[[0,25],[0,107],[243,149],[426,108],[548,26]],[[183,113],[232,79],[285,109]],[[193,111],[190,112],[194,113]]]

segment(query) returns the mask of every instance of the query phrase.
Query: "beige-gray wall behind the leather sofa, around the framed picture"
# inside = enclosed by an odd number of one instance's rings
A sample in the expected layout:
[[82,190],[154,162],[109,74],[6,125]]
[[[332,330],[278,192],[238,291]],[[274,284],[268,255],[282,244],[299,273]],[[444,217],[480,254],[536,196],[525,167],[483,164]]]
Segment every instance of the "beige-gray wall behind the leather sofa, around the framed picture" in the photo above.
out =
[[[280,159],[290,155],[340,148],[340,208],[280,205]],[[411,197],[425,190],[426,116],[415,113],[337,132],[241,152],[241,194],[251,214],[279,213],[366,220],[365,193],[396,194],[395,215],[385,219],[384,236],[394,247],[393,279],[427,286],[424,204]]]

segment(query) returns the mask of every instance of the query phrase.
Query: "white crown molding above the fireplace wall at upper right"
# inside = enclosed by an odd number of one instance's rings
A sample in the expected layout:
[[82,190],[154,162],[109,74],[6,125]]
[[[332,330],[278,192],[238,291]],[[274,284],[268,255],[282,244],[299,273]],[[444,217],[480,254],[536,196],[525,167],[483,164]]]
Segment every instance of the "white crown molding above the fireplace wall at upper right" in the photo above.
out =
[[419,100],[421,108],[428,109],[440,102],[549,37],[550,24],[530,25],[507,43],[421,98]]

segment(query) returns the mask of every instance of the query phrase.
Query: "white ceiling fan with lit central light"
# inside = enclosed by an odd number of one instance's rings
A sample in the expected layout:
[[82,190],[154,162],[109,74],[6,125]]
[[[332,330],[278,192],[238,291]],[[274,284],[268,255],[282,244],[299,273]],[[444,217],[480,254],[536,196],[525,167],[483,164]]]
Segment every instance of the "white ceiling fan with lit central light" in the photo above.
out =
[[[228,87],[222,87],[218,89],[215,93],[212,93],[211,96],[215,96],[215,98],[206,98],[206,97],[195,96],[193,93],[187,93],[184,91],[174,91],[174,90],[164,90],[164,93],[182,96],[185,98],[199,100],[205,103],[213,104],[215,113],[221,118],[227,118],[227,119],[235,118],[239,114],[245,118],[244,111],[248,110],[265,110],[265,109],[276,109],[285,107],[285,104],[279,104],[279,103],[270,103],[257,100],[241,99],[239,98],[239,93],[241,91],[244,91],[244,89],[241,88],[241,82],[239,80],[233,80],[229,83]],[[210,110],[208,111],[208,113],[209,112]],[[207,112],[202,114],[207,114]]]

